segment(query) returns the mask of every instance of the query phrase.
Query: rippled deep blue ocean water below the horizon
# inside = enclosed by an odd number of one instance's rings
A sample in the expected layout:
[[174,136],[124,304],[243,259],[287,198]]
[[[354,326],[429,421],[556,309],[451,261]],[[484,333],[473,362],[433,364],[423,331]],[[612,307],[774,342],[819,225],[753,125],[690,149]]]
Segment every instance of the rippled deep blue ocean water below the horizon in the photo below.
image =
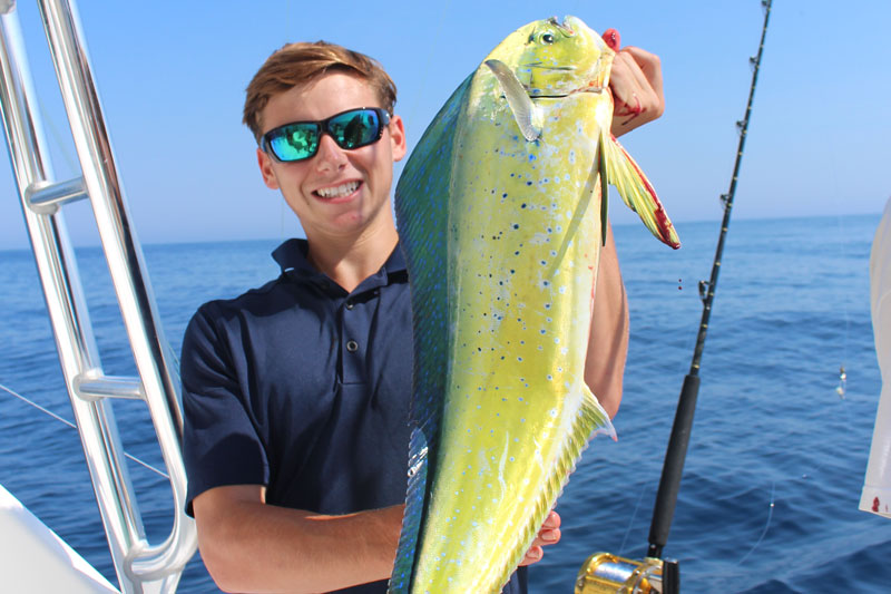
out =
[[[702,361],[698,408],[665,548],[685,593],[882,592],[891,522],[856,509],[880,390],[869,313],[879,215],[735,221]],[[595,552],[646,553],[665,446],[689,369],[717,223],[678,224],[672,252],[637,225],[615,227],[631,340],[617,442],[596,439],[558,512],[562,541],[530,572],[531,591],[571,592]],[[148,245],[169,342],[195,309],[277,273],[277,242]],[[107,373],[133,373],[98,249],[78,250]],[[0,252],[0,483],[116,583],[77,432],[13,397],[71,419],[32,256]],[[844,368],[846,380],[840,378]],[[116,402],[127,451],[161,467],[144,407]],[[154,542],[169,529],[166,480],[130,471]],[[179,592],[214,592],[196,556]]]

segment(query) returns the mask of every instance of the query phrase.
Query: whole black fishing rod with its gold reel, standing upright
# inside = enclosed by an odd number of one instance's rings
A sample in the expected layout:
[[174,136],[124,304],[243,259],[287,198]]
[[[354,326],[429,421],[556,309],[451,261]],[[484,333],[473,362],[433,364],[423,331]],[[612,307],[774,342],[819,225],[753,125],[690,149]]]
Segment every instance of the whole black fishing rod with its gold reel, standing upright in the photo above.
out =
[[731,187],[726,194],[721,196],[721,203],[724,206],[724,220],[721,224],[715,260],[712,263],[712,276],[708,281],[699,281],[699,299],[703,302],[702,322],[696,337],[696,347],[693,351],[693,362],[691,363],[689,372],[684,378],[674,425],[672,426],[672,435],[668,439],[668,447],[665,450],[665,462],[659,478],[656,504],[653,508],[647,555],[642,562],[623,558],[610,553],[591,555],[585,561],[578,573],[575,594],[606,594],[607,592],[678,594],[681,592],[681,574],[677,562],[663,559],[663,548],[668,539],[668,530],[672,527],[675,505],[677,504],[677,493],[681,488],[681,476],[684,470],[684,460],[687,456],[691,429],[693,428],[693,416],[699,393],[699,362],[705,348],[705,334],[708,330],[712,302],[715,300],[717,275],[721,271],[721,259],[724,254],[724,240],[730,227],[733,197],[736,194],[736,182],[748,133],[748,119],[752,115],[755,85],[757,84],[761,57],[764,51],[764,39],[767,35],[767,21],[771,16],[771,1],[762,0],[761,2],[764,8],[764,27],[761,31],[758,53],[756,57],[750,58],[753,65],[753,72],[748,104],[745,108],[745,118],[736,123],[740,128],[740,146],[736,150],[736,163],[733,167]]

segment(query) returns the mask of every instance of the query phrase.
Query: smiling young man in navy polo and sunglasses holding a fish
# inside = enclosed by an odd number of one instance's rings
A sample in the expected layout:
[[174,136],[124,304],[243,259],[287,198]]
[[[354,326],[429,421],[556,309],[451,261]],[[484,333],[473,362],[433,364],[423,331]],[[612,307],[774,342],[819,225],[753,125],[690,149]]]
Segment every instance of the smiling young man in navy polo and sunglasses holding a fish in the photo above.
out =
[[[662,114],[658,59],[619,55],[614,133]],[[203,305],[183,344],[189,510],[231,592],[384,592],[408,466],[411,302],[391,208],[407,154],[395,86],[370,58],[293,43],[247,88],[263,181],[306,240],[276,280]],[[630,108],[628,108],[630,106]],[[294,123],[310,123],[294,126]],[[316,125],[319,124],[319,125]],[[601,255],[586,381],[615,415],[627,304],[611,234]],[[560,537],[551,513],[523,561]],[[506,592],[526,592],[526,572]]]

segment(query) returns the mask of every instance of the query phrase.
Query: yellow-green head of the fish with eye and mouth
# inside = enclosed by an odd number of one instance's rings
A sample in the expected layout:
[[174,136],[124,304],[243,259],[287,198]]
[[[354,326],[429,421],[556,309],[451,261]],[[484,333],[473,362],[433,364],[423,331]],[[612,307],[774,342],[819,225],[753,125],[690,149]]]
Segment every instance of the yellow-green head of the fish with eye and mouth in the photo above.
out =
[[513,59],[502,61],[515,66],[517,78],[532,98],[599,92],[609,81],[615,51],[581,19],[535,21],[511,38],[511,47],[505,49],[515,52]]

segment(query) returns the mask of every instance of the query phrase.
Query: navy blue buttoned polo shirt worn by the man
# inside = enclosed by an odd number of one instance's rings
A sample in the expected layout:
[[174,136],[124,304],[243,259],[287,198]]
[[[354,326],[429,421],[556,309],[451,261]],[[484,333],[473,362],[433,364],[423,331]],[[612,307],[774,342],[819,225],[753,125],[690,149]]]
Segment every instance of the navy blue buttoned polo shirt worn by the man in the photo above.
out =
[[[286,241],[273,252],[277,279],[205,303],[188,324],[189,514],[197,495],[226,485],[265,485],[267,504],[321,514],[405,499],[412,333],[402,252],[347,293],[306,249]],[[526,592],[525,569],[505,592]]]

